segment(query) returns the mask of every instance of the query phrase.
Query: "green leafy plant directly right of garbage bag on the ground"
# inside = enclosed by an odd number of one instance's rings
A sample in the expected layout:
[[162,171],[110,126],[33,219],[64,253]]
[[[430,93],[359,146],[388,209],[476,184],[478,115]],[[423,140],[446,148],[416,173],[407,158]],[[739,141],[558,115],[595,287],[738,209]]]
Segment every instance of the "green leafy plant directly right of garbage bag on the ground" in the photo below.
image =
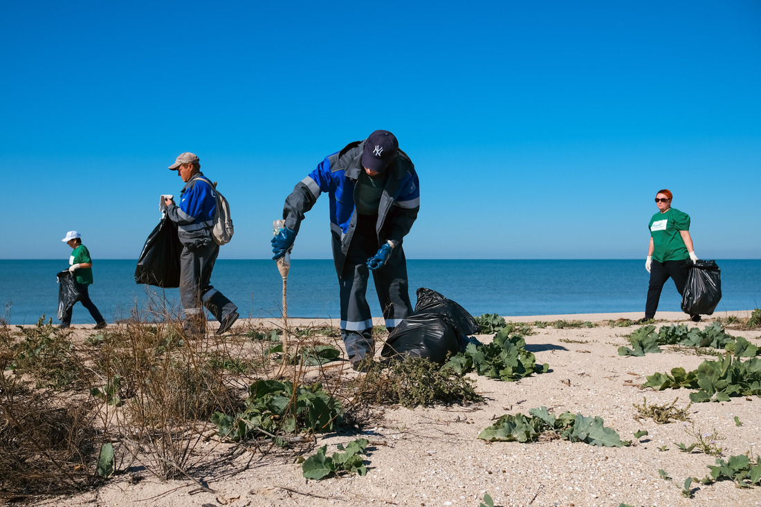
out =
[[451,358],[444,368],[451,368],[459,375],[475,370],[479,375],[514,381],[549,370],[548,364],[537,366],[537,358],[524,349],[526,340],[521,336],[509,336],[503,328],[494,336],[492,343],[476,345],[469,343],[465,352]]

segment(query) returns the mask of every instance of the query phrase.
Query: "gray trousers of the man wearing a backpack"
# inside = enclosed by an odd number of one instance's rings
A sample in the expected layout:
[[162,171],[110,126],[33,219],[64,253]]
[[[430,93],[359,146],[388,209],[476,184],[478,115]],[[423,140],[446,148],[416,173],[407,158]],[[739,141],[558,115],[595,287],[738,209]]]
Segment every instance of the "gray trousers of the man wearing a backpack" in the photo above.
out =
[[201,305],[217,320],[237,310],[237,306],[211,284],[219,245],[209,240],[201,246],[183,245],[180,253],[180,301],[185,317],[202,317]]

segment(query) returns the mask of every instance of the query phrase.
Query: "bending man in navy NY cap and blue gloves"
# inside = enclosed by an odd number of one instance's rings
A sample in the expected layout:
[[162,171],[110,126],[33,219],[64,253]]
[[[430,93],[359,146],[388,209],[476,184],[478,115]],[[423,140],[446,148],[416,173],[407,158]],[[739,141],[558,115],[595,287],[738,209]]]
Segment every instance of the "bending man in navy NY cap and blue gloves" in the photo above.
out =
[[412,313],[402,249],[420,207],[415,166],[396,137],[376,130],[317,164],[285,199],[283,228],[272,238],[278,259],[291,249],[304,213],[330,196],[333,261],[341,297],[341,337],[355,369],[372,358],[372,315],[365,293],[373,272],[380,308],[391,330]]

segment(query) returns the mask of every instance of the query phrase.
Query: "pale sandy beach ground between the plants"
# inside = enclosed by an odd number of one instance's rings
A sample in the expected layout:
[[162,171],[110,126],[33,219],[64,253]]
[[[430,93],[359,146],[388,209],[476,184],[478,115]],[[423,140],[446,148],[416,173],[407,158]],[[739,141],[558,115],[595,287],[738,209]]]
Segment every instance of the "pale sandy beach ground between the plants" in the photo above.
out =
[[[733,312],[748,317],[750,311]],[[677,312],[660,312],[656,326],[689,324],[703,328],[716,317],[699,324]],[[657,424],[653,419],[635,419],[635,404],[689,404],[685,389],[652,391],[639,386],[647,375],[683,367],[698,367],[713,356],[694,350],[661,346],[660,354],[642,357],[619,356],[619,346],[628,345],[625,335],[638,326],[618,327],[619,319],[635,320],[641,312],[629,314],[570,314],[505,317],[508,322],[536,323],[558,320],[588,321],[595,327],[531,326],[524,336],[526,349],[537,364],[548,363],[549,371],[520,381],[497,381],[468,374],[484,403],[466,406],[386,408],[359,433],[338,432],[317,435],[310,442],[291,448],[270,448],[263,454],[247,445],[223,467],[193,470],[193,480],[158,480],[133,467],[114,475],[108,482],[75,496],[35,499],[33,505],[167,505],[209,507],[211,505],[469,505],[476,507],[485,493],[495,505],[761,505],[761,488],[738,489],[731,481],[707,486],[693,483],[694,497],[683,497],[687,477],[705,477],[715,457],[693,451],[681,452],[677,443],[694,442],[686,433],[718,432],[722,456],[761,451],[761,398],[733,397],[720,403],[693,403],[689,424]],[[234,329],[254,324],[279,327],[282,321],[239,321]],[[291,319],[291,327],[321,327],[337,322],[320,319]],[[378,319],[380,324],[380,319]],[[75,333],[90,333],[89,326],[75,326]],[[761,346],[761,330],[728,329]],[[477,336],[482,342],[490,335]],[[336,340],[340,343],[340,340]],[[337,344],[338,344],[337,343]],[[380,350],[380,347],[377,347]],[[345,358],[335,363],[346,378],[358,375]],[[605,426],[615,429],[632,445],[605,448],[581,442],[555,439],[536,443],[485,442],[477,436],[499,416],[524,413],[547,407],[556,414],[570,411],[584,416],[600,416]],[[735,417],[742,422],[737,426]],[[692,426],[694,423],[694,427]],[[638,430],[648,435],[635,438]],[[370,441],[365,458],[368,472],[326,480],[305,480],[298,457],[314,454],[327,445],[327,454],[336,445],[355,438]],[[209,438],[198,452],[224,451],[235,444]],[[672,480],[664,480],[658,470]],[[200,490],[199,484],[207,490]],[[213,491],[213,492],[212,492]]]

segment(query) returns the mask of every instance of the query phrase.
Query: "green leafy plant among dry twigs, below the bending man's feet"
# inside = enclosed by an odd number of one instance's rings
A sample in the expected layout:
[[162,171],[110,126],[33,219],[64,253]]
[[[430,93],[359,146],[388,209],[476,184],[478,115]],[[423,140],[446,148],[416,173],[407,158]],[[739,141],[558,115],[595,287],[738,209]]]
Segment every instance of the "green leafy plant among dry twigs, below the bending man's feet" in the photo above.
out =
[[323,391],[319,382],[294,387],[290,381],[256,381],[245,403],[246,410],[235,416],[214,413],[212,422],[221,437],[240,442],[262,432],[329,432],[343,413],[339,400]]

